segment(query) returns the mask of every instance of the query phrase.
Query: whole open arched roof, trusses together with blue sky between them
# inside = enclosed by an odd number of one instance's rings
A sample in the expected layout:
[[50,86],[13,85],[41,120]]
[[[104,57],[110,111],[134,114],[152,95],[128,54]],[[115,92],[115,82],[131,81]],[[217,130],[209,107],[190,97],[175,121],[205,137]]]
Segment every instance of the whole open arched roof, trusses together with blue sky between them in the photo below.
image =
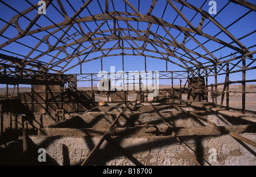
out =
[[[214,2],[2,1],[1,63],[75,74],[94,60],[122,61],[127,70],[144,68],[147,60],[156,70],[189,70],[221,66],[232,56],[253,58],[255,6]],[[138,68],[129,68],[131,62]]]

